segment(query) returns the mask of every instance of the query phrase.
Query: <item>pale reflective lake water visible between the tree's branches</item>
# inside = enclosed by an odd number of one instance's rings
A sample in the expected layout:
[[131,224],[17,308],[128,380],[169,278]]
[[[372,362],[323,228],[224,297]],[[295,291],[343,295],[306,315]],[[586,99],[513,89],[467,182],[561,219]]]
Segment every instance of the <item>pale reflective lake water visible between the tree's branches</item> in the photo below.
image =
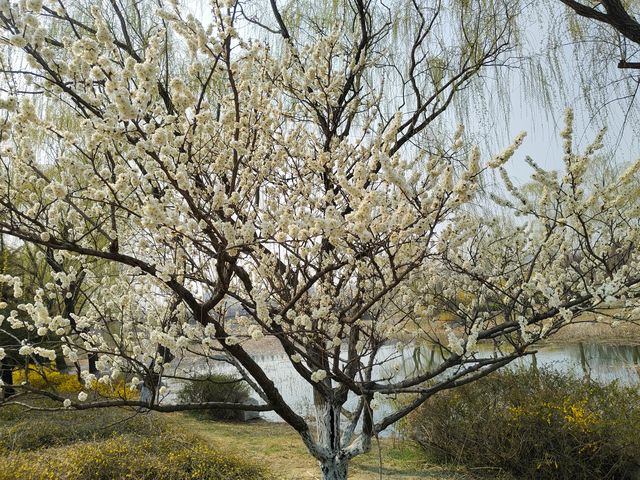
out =
[[[484,352],[490,355],[491,352]],[[387,359],[384,369],[374,370],[374,377],[406,377],[428,369],[441,357],[431,347],[407,347],[398,352],[395,347],[383,347],[378,355],[379,359]],[[293,409],[306,417],[313,416],[313,397],[311,387],[302,380],[291,366],[288,358],[282,353],[254,355],[254,359],[262,366],[265,373],[273,380],[284,399]],[[510,368],[527,366],[532,363],[538,366],[549,366],[563,372],[578,376],[588,375],[594,380],[602,382],[619,381],[627,385],[640,386],[640,346],[599,345],[599,344],[571,344],[562,346],[540,347],[535,355],[529,355],[514,361]],[[183,374],[206,373],[233,374],[233,367],[222,362],[215,365],[200,366],[192,363],[185,368]],[[177,383],[171,382],[172,391],[179,389]],[[173,396],[166,400],[171,401]],[[346,408],[353,408],[356,399],[351,398]],[[391,406],[383,403],[375,412],[375,417],[381,418],[390,412]],[[263,412],[262,418],[268,421],[281,421],[273,412]]]

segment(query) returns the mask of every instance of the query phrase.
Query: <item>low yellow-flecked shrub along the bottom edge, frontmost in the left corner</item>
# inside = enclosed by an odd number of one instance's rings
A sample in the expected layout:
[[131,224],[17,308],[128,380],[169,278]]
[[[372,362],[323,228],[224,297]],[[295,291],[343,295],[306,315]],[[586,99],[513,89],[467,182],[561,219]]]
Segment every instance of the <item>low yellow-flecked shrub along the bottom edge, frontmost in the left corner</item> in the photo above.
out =
[[265,480],[260,467],[188,437],[119,436],[32,452],[10,452],[0,480]]

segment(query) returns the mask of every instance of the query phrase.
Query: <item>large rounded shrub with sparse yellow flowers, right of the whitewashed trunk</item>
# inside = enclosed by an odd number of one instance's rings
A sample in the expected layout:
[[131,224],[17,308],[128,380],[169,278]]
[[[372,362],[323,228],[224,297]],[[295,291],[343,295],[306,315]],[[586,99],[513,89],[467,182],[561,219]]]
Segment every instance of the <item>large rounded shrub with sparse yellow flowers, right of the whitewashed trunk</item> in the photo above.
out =
[[540,480],[600,480],[637,473],[638,425],[636,390],[531,368],[441,392],[404,428],[441,461]]

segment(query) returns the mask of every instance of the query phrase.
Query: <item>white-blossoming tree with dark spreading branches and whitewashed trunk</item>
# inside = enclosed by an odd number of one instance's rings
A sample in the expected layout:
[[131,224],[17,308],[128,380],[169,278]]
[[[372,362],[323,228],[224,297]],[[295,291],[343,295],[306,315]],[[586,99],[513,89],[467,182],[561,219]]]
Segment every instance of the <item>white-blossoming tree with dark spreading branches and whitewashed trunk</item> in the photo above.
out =
[[[150,17],[137,2],[0,2],[0,232],[77,265],[30,298],[4,275],[21,303],[0,328],[55,333],[69,365],[99,355],[87,388],[124,378],[152,390],[72,400],[27,384],[9,401],[272,410],[322,478],[345,479],[373,436],[434,393],[582,312],[633,314],[639,164],[585,183],[601,136],[575,153],[568,115],[566,171],[530,161],[531,199],[503,168],[523,136],[482,162],[461,130],[438,135],[457,92],[507,60],[500,6],[407,2],[401,18],[383,3],[312,2],[299,15],[272,1],[265,19],[251,3],[211,4],[198,20],[177,4]],[[398,28],[409,44],[394,50]],[[488,170],[516,221],[472,203]],[[90,301],[52,314],[46,299],[80,275]],[[453,321],[436,321],[443,312]],[[313,425],[248,352],[265,336],[313,391]],[[423,341],[441,361],[408,376],[381,368]],[[55,356],[29,339],[19,350]],[[148,379],[179,377],[172,363],[185,359],[231,364],[261,402],[174,403]],[[374,408],[398,394],[397,409]]]

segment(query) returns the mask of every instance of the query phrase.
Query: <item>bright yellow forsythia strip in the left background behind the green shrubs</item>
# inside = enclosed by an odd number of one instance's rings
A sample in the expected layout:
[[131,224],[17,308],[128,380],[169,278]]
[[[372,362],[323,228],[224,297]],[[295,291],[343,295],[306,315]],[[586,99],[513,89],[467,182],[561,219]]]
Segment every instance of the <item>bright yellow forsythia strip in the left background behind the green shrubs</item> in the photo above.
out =
[[124,380],[102,383],[94,381],[90,385],[83,385],[77,375],[73,373],[61,373],[53,368],[38,367],[25,370],[17,369],[13,372],[13,383],[27,382],[33,388],[39,390],[53,390],[60,394],[76,394],[83,390],[93,392],[100,397],[135,399],[139,397],[137,390],[131,390]]

